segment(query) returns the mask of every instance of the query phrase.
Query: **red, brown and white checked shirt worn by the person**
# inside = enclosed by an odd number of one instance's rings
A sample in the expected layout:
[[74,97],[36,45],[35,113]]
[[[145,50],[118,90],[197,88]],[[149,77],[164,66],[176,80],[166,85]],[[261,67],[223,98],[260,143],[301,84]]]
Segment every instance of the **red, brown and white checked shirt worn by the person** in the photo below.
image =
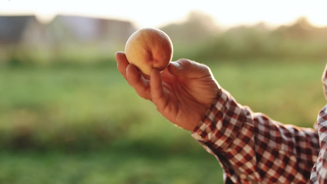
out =
[[[327,66],[322,76],[327,98]],[[213,154],[225,183],[327,183],[327,107],[316,130],[253,113],[224,89],[192,137]]]

